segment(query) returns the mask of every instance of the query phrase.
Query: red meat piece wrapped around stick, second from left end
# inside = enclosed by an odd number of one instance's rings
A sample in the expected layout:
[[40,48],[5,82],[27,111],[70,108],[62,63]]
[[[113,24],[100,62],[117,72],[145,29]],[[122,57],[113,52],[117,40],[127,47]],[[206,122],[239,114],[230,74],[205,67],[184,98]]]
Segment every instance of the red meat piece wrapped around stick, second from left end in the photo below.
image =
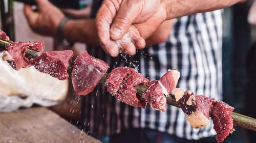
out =
[[44,42],[38,40],[31,42],[12,42],[8,45],[7,50],[3,54],[3,60],[7,61],[15,70],[27,68],[31,66],[32,61],[25,57],[28,49],[44,51]]

